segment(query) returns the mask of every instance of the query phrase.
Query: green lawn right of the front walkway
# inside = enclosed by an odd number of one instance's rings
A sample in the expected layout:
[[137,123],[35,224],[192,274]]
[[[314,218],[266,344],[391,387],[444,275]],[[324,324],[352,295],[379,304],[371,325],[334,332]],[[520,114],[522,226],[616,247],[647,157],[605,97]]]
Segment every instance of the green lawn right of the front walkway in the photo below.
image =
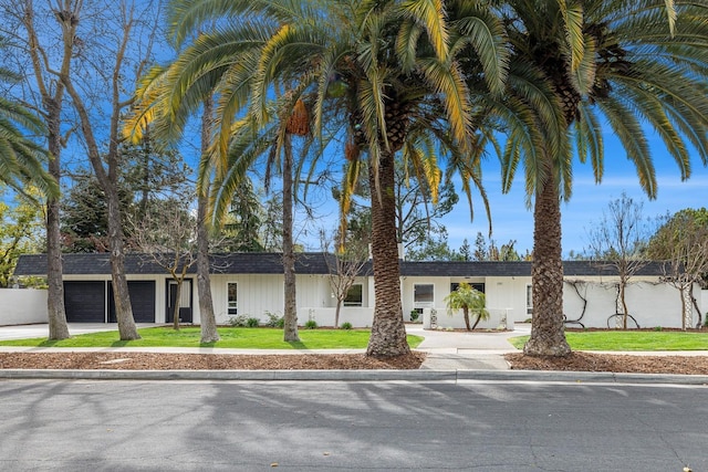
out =
[[[574,350],[708,350],[708,333],[684,332],[587,332],[565,333]],[[523,348],[529,336],[512,337],[516,348]]]

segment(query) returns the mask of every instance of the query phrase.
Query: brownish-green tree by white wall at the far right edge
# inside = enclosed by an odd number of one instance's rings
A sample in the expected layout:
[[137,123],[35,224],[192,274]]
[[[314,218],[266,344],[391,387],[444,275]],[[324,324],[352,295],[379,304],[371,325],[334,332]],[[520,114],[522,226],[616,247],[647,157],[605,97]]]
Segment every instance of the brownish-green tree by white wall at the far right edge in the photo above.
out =
[[694,296],[696,283],[707,286],[708,274],[708,210],[687,208],[666,217],[664,223],[649,239],[647,258],[667,261],[666,280],[678,289],[681,297],[681,326],[690,327],[691,307],[701,313]]

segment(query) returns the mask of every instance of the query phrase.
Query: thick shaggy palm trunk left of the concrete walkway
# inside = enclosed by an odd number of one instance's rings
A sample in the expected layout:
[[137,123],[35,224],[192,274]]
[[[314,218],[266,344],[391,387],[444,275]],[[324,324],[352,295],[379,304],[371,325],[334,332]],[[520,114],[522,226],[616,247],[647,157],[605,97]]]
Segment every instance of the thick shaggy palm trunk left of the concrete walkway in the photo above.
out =
[[[394,156],[383,151],[378,165],[378,187],[369,162],[372,189],[372,258],[374,265],[374,321],[366,355],[394,357],[410,353],[400,304],[400,268],[396,242]],[[379,189],[378,193],[376,189]]]

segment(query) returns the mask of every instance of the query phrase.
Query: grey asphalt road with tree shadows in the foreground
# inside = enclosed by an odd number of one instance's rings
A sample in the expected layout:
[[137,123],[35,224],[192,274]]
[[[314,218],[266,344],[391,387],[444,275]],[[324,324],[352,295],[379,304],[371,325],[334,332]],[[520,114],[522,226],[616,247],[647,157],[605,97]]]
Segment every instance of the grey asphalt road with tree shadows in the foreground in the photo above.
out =
[[0,381],[7,471],[708,471],[708,388]]

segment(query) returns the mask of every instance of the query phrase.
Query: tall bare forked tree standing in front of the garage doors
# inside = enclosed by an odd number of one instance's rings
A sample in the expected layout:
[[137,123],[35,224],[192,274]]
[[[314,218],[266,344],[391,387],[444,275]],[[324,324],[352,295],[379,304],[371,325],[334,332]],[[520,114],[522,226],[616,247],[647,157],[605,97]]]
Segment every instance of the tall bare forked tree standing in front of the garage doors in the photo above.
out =
[[[150,59],[154,34],[157,31],[155,28],[157,9],[152,2],[147,2],[142,4],[145,10],[137,11],[134,2],[125,0],[117,4],[114,2],[112,8],[101,11],[103,14],[94,15],[83,11],[84,3],[80,0],[74,2],[65,0],[65,3],[71,8],[55,11],[56,21],[62,27],[62,43],[65,48],[76,46],[77,43],[86,44],[86,34],[95,34],[102,39],[93,44],[95,49],[91,50],[91,54],[87,52],[77,54],[75,56],[77,67],[63,71],[59,74],[59,78],[66,87],[72,106],[79,116],[81,136],[88,161],[106,196],[111,276],[118,333],[121,339],[138,339],[140,336],[133,318],[124,270],[124,221],[118,195],[119,122],[122,114],[134,101],[133,92],[126,93],[126,87],[131,91],[135,88],[135,81],[142,75]],[[147,17],[142,18],[142,15]],[[79,25],[84,18],[87,19],[87,24],[84,29],[80,29]],[[148,30],[149,27],[153,28]],[[79,71],[95,74],[94,81],[81,80]],[[107,101],[104,97],[106,91]],[[107,129],[102,129],[96,124],[96,117],[92,116],[92,109],[101,106],[98,104],[106,109]],[[101,133],[107,134],[107,149],[103,153],[98,145]]]

